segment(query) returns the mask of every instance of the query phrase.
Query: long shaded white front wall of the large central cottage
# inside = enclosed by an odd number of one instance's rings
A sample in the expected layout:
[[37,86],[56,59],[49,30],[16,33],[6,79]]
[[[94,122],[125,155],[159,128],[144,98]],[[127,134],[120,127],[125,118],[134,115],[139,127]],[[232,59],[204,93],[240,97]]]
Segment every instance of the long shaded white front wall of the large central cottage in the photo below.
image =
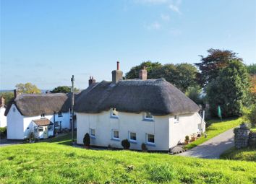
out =
[[[77,114],[77,144],[83,144],[85,133],[90,128],[95,129],[95,139],[91,139],[91,145],[122,148],[121,140],[128,139],[129,131],[135,132],[137,144],[131,143],[130,149],[141,149],[141,144],[146,141],[146,133],[155,135],[155,146],[147,145],[149,150],[168,150],[168,122],[169,115],[155,116],[154,121],[143,121],[144,113],[121,113],[119,118],[110,118],[110,111],[102,113]],[[120,141],[111,139],[113,129],[119,130]]]

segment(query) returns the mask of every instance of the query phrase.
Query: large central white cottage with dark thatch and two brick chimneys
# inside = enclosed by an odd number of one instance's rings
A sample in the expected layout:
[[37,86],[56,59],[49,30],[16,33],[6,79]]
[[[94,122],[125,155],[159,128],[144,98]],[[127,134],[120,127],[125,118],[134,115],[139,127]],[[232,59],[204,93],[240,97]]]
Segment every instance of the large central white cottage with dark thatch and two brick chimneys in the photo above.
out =
[[205,131],[200,108],[165,79],[122,79],[122,71],[112,71],[111,82],[90,84],[75,102],[77,144],[90,134],[93,146],[122,148],[128,139],[130,149],[168,151],[184,142],[185,136]]

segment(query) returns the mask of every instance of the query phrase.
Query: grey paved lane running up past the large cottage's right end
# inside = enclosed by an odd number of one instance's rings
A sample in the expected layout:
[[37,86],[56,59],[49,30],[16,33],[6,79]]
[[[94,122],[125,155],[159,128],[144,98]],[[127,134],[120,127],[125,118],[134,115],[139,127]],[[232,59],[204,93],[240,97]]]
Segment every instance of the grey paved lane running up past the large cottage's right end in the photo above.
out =
[[178,155],[187,157],[200,157],[207,159],[218,159],[220,155],[227,149],[234,146],[234,133],[233,128],[229,131],[225,131],[218,136],[209,139],[204,143],[196,146],[195,148],[187,150]]

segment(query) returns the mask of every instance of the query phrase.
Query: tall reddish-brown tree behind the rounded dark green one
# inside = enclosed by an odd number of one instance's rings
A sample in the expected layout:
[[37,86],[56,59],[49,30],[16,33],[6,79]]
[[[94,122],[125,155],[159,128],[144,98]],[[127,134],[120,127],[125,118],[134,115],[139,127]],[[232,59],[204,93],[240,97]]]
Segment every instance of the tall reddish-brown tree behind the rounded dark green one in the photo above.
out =
[[205,86],[209,82],[216,79],[218,76],[218,72],[221,69],[225,68],[229,65],[231,61],[240,61],[242,63],[242,58],[238,58],[236,53],[220,49],[210,48],[208,50],[208,56],[200,56],[201,62],[195,63],[195,65],[200,69],[200,73],[198,73],[198,77],[200,79],[200,84]]

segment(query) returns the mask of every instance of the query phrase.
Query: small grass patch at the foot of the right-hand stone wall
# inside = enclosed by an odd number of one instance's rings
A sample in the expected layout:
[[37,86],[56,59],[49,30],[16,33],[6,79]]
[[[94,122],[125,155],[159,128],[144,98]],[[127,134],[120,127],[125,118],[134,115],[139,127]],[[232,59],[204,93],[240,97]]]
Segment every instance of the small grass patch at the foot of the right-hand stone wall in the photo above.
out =
[[256,148],[228,149],[221,154],[221,159],[235,159],[256,162]]

